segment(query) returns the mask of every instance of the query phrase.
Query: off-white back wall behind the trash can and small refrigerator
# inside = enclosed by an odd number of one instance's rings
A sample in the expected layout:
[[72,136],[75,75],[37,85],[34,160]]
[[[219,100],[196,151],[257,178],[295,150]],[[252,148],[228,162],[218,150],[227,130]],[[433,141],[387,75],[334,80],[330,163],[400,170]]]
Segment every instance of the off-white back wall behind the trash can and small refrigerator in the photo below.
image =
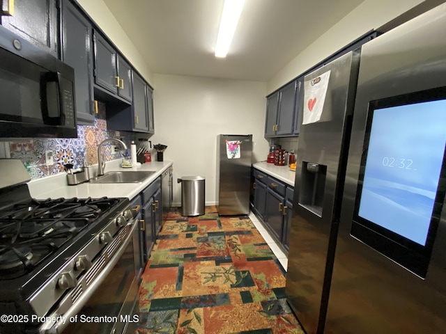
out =
[[178,177],[206,177],[206,205],[215,204],[217,134],[252,134],[253,162],[266,159],[263,138],[266,83],[153,74],[153,144],[174,161],[174,204],[181,201]]

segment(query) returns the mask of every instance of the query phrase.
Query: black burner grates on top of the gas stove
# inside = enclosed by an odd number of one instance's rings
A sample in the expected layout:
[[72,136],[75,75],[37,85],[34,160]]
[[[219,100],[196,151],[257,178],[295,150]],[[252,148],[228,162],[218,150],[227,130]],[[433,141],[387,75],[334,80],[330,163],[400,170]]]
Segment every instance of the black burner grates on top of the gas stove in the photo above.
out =
[[17,278],[97,221],[114,198],[29,200],[0,211],[0,275]]

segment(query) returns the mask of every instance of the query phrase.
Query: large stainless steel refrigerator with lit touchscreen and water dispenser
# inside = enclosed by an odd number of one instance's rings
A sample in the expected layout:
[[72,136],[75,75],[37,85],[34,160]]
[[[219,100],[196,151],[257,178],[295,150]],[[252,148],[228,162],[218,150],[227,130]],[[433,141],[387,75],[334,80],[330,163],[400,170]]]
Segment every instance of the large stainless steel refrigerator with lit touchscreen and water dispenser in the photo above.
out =
[[445,3],[305,77],[308,112],[330,71],[300,127],[286,275],[307,333],[445,333],[444,31]]

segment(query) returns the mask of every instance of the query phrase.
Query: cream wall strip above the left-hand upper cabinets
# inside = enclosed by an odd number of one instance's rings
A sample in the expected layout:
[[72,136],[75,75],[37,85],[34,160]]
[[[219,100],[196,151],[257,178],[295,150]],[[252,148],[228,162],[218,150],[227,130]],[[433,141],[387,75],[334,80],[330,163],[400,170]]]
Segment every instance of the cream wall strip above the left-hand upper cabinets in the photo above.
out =
[[[130,38],[123,31],[119,22],[105,6],[102,0],[77,0],[80,6],[90,15],[95,24],[97,24],[105,35],[112,40],[114,45],[118,47],[121,54],[130,61],[134,68],[148,81],[152,83],[152,73],[148,66],[148,59],[142,56]],[[130,5],[129,5],[130,6]]]

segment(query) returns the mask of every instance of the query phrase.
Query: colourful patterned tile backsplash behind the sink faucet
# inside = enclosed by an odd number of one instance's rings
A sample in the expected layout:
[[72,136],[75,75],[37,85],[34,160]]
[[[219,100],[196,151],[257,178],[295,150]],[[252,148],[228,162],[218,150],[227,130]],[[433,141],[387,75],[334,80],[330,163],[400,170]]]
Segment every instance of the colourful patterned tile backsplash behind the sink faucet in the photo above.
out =
[[[80,168],[98,163],[98,145],[105,138],[120,138],[130,147],[132,132],[115,132],[107,130],[105,104],[99,102],[95,125],[77,126],[77,138],[26,138],[10,141],[10,157],[22,160],[32,179],[54,175],[64,171],[63,166],[73,164]],[[46,166],[45,152],[51,150],[54,164]],[[104,145],[102,154],[105,161],[119,159],[120,153],[112,152],[111,145]],[[130,152],[125,152],[128,156]]]

